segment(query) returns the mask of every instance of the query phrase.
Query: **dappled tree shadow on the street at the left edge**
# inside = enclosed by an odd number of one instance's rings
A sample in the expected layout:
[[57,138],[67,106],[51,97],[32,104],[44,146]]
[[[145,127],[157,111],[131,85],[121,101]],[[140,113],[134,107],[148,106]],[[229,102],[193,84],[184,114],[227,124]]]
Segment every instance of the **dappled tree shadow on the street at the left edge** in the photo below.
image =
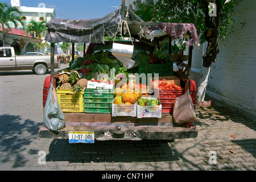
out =
[[[13,168],[26,166],[29,155],[38,154],[38,150],[26,150],[36,137],[40,123],[22,119],[19,115],[0,115],[0,163],[13,162]],[[8,164],[9,165],[9,164]]]

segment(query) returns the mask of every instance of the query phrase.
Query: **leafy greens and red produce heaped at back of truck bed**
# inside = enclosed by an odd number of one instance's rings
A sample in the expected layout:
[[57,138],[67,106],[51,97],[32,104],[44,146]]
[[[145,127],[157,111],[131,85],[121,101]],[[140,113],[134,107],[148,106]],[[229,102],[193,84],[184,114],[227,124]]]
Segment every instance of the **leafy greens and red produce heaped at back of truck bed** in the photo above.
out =
[[143,64],[161,64],[171,61],[170,55],[166,52],[155,48],[154,52],[148,53],[142,51],[134,53],[131,57],[136,63],[133,68],[126,69],[123,67],[121,61],[115,58],[110,51],[98,51],[93,55],[85,55],[84,57],[77,57],[69,63],[71,70],[77,70],[81,73],[83,78],[90,80],[93,78],[93,73],[106,73],[110,76],[110,69],[115,70],[115,75],[120,73],[125,74],[127,77],[129,73],[138,73],[138,65]]

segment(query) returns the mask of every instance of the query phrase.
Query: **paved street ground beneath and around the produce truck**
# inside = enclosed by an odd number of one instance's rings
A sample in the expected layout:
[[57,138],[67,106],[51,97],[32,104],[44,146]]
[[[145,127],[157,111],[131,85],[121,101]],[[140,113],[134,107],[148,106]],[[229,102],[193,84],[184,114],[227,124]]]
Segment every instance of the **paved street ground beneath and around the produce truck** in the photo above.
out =
[[42,89],[48,75],[0,72],[0,170],[256,169],[256,123],[220,104],[197,107],[199,135],[193,139],[94,144],[41,139]]

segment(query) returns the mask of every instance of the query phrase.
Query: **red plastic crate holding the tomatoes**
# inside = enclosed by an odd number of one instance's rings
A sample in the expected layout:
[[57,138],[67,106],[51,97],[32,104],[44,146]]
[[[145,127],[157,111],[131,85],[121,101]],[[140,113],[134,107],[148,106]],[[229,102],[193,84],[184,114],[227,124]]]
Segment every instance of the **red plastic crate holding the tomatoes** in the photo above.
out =
[[[168,93],[171,92],[171,93]],[[184,94],[184,90],[160,90],[159,101],[162,104],[162,113],[173,113],[175,98]]]

